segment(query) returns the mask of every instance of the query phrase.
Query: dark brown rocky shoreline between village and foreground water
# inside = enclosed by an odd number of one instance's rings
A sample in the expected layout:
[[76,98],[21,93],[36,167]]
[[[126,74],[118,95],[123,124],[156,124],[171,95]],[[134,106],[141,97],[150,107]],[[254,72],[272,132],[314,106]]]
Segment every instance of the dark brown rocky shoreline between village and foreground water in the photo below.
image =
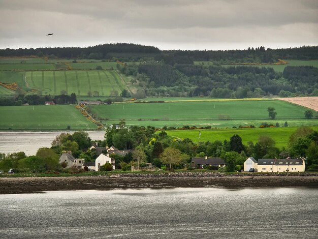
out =
[[318,173],[225,174],[218,172],[186,172],[161,174],[123,173],[109,176],[0,177],[0,194],[127,188],[303,186],[318,188]]

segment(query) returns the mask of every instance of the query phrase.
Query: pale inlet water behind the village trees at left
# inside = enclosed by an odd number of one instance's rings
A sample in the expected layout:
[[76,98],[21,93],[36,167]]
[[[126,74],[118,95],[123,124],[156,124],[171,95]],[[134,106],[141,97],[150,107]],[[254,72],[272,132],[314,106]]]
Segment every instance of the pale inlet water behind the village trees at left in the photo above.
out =
[[[36,155],[40,147],[51,147],[52,141],[61,133],[63,132],[0,132],[0,153],[23,151],[27,156]],[[105,135],[105,132],[87,133],[92,140],[103,140]]]

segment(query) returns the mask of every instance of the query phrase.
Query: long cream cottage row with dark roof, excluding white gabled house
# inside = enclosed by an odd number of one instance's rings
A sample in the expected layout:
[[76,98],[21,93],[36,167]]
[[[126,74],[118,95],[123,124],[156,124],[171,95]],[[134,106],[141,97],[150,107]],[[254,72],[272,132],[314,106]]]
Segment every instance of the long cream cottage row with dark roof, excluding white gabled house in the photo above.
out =
[[258,172],[304,172],[304,159],[259,159]]

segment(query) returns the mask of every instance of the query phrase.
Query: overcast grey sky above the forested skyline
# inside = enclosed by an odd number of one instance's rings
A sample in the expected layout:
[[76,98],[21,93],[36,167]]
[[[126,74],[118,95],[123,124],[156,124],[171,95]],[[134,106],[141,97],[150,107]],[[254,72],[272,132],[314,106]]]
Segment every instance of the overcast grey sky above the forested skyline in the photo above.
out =
[[[46,36],[53,33],[53,36]],[[317,0],[0,0],[0,49],[318,45]]]

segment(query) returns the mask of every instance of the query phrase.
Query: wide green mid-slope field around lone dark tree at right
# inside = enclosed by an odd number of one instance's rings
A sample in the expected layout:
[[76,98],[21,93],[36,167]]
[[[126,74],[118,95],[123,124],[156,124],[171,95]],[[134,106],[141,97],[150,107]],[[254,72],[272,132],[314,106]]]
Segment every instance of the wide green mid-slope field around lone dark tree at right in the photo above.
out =
[[[268,118],[268,107],[274,107],[276,119]],[[288,122],[289,126],[317,125],[316,119],[305,119],[304,107],[278,100],[240,100],[240,101],[193,101],[167,103],[115,103],[111,105],[89,106],[98,118],[108,118],[104,125],[118,123],[124,119],[126,125],[138,126],[197,126],[212,128],[232,128],[261,123],[280,126]],[[228,115],[229,120],[219,119]]]

